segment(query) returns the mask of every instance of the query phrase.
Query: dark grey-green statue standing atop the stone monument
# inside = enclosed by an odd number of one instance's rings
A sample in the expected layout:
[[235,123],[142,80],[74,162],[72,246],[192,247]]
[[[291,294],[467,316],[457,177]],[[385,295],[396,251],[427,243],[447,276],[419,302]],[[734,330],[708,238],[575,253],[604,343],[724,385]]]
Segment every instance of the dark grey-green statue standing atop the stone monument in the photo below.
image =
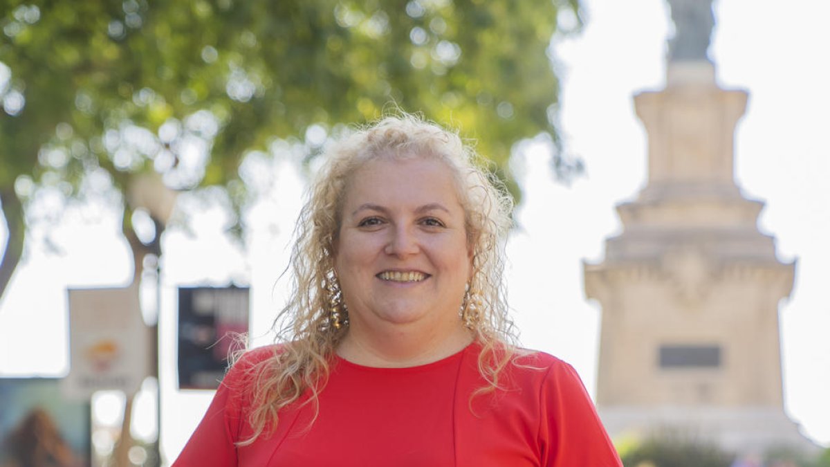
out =
[[709,61],[715,14],[712,0],[668,0],[675,36],[669,41],[669,61]]

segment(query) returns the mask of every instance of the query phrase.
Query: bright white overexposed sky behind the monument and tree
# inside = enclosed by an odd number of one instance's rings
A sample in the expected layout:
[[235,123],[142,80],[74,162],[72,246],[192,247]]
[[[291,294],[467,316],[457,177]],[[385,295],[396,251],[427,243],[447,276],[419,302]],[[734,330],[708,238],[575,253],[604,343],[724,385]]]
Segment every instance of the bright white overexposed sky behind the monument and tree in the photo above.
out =
[[[603,260],[604,241],[620,234],[614,206],[635,199],[646,183],[646,133],[632,96],[665,85],[661,0],[585,0],[587,26],[554,43],[563,77],[562,129],[586,174],[566,186],[534,145],[514,169],[525,199],[520,227],[508,243],[509,302],[525,347],[569,361],[588,390],[596,386],[597,302],[586,301],[582,263]],[[717,0],[710,57],[720,86],[749,91],[735,135],[735,180],[764,201],[759,229],[774,235],[779,259],[797,261],[789,299],[780,304],[787,414],[805,435],[830,445],[830,3],[816,0]],[[252,181],[266,190],[251,207],[248,248],[222,234],[221,210],[180,196],[191,228],[164,236],[160,333],[162,439],[168,460],[182,449],[210,392],[177,391],[174,348],[176,288],[228,283],[251,286],[254,345],[271,342],[271,320],[285,297],[288,244],[304,185],[291,160],[250,160]],[[270,189],[266,189],[271,187]],[[206,209],[207,208],[207,209]],[[48,203],[40,209],[49,209]],[[0,227],[0,242],[6,231]],[[69,366],[66,288],[129,282],[129,247],[118,213],[106,204],[66,209],[60,224],[37,227],[0,302],[0,376],[61,376]],[[118,398],[100,397],[96,415],[113,423]],[[151,397],[136,403],[134,432],[149,436]]]

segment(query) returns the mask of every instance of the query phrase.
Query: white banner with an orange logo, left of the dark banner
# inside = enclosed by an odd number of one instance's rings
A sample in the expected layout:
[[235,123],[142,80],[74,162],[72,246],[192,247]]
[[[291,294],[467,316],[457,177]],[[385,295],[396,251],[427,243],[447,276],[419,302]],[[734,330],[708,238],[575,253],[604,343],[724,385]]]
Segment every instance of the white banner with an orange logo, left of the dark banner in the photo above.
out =
[[139,390],[150,354],[138,288],[70,289],[69,330],[70,371],[62,387],[66,397]]

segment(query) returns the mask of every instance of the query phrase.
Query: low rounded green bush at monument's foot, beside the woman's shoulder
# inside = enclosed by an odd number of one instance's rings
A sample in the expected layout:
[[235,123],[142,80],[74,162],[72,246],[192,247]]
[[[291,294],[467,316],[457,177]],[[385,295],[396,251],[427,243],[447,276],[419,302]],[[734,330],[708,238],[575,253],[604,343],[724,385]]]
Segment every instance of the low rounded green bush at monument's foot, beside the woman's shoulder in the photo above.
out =
[[626,467],[730,467],[734,455],[678,434],[652,437],[621,453]]

